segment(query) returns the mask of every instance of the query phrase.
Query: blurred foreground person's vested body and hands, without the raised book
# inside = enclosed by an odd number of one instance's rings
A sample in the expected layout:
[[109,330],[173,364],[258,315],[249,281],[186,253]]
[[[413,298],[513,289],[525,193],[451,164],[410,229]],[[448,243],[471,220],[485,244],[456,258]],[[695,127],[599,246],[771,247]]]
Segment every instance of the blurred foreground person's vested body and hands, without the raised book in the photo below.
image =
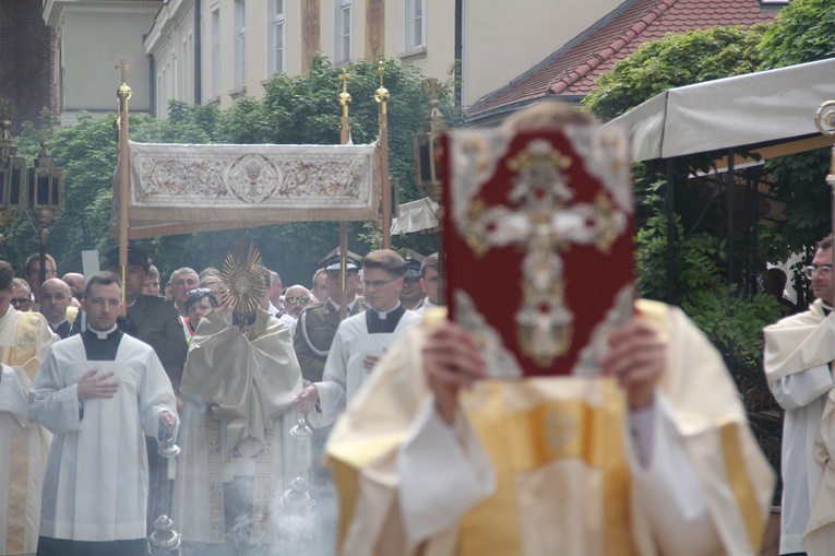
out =
[[680,310],[637,309],[609,378],[485,380],[463,329],[409,331],[329,440],[339,554],[759,555],[774,476],[733,381]]

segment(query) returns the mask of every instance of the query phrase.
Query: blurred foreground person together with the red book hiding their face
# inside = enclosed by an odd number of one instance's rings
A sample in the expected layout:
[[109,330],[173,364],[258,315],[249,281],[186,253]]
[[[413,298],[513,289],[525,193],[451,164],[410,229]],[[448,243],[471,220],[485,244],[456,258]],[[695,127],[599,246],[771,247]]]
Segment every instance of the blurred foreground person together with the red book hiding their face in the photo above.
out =
[[774,477],[721,356],[633,301],[627,151],[556,104],[446,138],[450,321],[331,436],[341,554],[759,554]]

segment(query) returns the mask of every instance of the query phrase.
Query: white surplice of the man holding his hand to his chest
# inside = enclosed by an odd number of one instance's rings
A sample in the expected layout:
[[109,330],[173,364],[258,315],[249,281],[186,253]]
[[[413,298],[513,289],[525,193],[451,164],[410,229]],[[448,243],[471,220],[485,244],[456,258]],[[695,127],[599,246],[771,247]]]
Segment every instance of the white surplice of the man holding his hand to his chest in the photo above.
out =
[[[111,399],[79,402],[91,369],[114,372]],[[176,415],[171,383],[147,344],[122,335],[115,362],[87,360],[81,335],[52,346],[32,385],[32,417],[55,438],[44,478],[40,535],[74,541],[145,536],[148,478],[144,435],[164,411]]]

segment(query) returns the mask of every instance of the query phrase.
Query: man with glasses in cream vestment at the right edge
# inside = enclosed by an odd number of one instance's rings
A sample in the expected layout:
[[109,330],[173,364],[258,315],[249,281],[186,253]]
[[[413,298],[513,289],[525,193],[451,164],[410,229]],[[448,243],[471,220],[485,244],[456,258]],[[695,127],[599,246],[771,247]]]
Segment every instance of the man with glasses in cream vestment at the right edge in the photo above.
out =
[[[830,521],[835,514],[832,485],[815,457],[815,437],[825,418],[827,394],[832,391],[832,360],[835,359],[833,307],[833,237],[818,242],[806,275],[815,301],[809,310],[765,328],[765,376],[774,398],[786,410],[783,422],[783,512],[780,555],[825,554],[815,552],[816,531],[807,534],[809,523]],[[828,436],[828,435],[826,435]],[[809,543],[813,543],[810,545]]]

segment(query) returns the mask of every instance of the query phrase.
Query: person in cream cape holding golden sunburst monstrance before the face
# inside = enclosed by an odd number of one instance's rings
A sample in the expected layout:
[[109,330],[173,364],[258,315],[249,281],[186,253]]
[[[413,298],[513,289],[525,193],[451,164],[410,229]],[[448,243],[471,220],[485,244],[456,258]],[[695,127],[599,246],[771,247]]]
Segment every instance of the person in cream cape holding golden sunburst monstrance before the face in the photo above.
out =
[[193,554],[281,541],[301,372],[289,329],[261,308],[266,272],[253,246],[237,244],[222,271],[226,306],[208,311],[191,339],[174,523]]

